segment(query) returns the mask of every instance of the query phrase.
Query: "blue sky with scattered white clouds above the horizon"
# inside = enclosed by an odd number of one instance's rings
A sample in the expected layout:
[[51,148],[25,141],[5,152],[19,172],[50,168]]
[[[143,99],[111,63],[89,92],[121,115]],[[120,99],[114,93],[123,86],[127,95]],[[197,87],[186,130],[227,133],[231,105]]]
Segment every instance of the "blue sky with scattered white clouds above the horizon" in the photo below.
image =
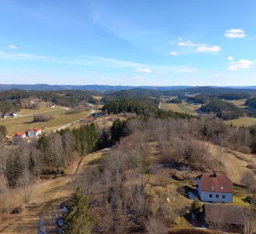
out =
[[256,85],[255,0],[0,0],[0,83]]

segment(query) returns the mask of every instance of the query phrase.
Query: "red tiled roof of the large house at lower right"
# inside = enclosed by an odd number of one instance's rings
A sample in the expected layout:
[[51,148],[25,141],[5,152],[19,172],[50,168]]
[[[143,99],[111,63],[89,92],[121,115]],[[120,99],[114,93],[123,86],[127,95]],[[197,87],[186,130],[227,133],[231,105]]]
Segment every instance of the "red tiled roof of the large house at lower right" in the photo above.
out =
[[214,172],[206,173],[198,177],[200,189],[203,192],[233,192],[233,183],[226,175]]

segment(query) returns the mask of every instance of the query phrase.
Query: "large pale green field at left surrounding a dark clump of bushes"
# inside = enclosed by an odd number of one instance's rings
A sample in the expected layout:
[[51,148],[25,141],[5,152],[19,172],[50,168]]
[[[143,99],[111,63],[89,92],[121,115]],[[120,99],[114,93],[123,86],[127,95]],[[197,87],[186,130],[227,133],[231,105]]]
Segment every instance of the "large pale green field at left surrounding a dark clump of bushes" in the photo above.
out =
[[[66,109],[63,107],[42,107],[39,110],[22,110],[21,116],[16,118],[1,119],[0,124],[7,128],[10,135],[16,132],[26,131],[30,128],[41,127],[43,133],[55,131],[58,127],[68,125],[69,123],[81,120],[89,111],[84,111],[80,114],[65,114]],[[32,122],[35,114],[43,114],[49,117],[53,117],[53,120],[47,122]]]

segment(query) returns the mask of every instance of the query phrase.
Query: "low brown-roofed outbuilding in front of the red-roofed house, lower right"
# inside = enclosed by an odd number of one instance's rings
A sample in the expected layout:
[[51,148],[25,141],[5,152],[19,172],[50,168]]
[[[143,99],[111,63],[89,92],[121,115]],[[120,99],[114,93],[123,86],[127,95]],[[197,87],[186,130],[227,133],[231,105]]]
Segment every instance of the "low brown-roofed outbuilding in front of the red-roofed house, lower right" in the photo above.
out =
[[205,204],[204,221],[208,227],[228,233],[244,233],[246,217],[240,206]]

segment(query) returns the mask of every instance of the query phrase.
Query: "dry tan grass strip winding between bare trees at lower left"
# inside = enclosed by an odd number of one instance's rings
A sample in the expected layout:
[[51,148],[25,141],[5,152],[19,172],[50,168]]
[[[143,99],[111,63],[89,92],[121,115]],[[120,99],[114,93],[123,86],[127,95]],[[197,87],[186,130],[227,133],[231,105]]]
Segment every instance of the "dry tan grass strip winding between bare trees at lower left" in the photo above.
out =
[[90,153],[75,162],[69,176],[37,183],[33,187],[30,203],[24,206],[21,214],[13,215],[8,222],[0,224],[0,233],[36,234],[39,225],[45,233],[56,233],[53,219],[58,217],[59,205],[74,192],[72,182],[95,157],[101,157],[102,153]]

